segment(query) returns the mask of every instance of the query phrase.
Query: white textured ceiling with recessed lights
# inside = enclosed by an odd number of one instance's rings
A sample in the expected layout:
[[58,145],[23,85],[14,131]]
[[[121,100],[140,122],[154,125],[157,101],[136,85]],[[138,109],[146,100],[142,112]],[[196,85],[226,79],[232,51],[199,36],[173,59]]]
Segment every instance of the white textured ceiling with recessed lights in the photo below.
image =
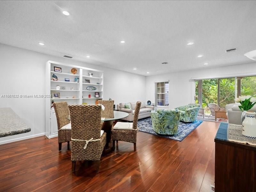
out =
[[253,62],[244,53],[256,49],[255,10],[256,1],[0,1],[0,43],[164,74]]

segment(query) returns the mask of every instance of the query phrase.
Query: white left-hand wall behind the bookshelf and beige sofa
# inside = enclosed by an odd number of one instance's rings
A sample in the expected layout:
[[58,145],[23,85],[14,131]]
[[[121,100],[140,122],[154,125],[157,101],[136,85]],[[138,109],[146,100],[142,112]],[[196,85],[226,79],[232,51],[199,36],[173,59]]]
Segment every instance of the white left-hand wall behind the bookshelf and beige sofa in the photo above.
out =
[[[145,101],[146,77],[120,70],[55,57],[0,44],[0,96],[2,94],[44,94],[45,63],[63,62],[104,71],[104,98],[120,102]],[[31,132],[0,138],[0,144],[44,135],[44,99],[0,97],[0,108],[11,107],[31,128]],[[1,117],[0,117],[1,118]]]

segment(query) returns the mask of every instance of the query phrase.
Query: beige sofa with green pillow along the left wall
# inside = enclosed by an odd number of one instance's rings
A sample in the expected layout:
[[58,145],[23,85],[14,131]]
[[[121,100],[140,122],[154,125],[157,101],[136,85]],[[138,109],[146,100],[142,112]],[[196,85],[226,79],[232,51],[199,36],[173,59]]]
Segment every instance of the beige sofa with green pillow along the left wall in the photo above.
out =
[[[117,105],[117,108],[121,108],[119,111],[124,111],[126,113],[129,113],[129,116],[123,118],[123,120],[133,121],[133,115],[134,115],[134,111],[135,111],[136,102],[132,102],[131,106],[132,106],[132,108],[128,109],[128,108],[124,108],[124,103],[119,103],[119,105]],[[154,106],[148,106],[148,105],[145,105],[144,102],[141,102],[140,113],[139,113],[138,119],[150,117],[150,112],[151,112],[151,110],[154,110],[154,108],[155,108]]]

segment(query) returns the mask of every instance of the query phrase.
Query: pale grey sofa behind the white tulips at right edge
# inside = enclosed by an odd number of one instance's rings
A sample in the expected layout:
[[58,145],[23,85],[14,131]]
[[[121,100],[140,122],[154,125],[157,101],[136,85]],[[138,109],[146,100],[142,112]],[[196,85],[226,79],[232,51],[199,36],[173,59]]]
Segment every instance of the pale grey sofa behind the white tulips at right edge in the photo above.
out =
[[[242,111],[239,109],[240,103],[235,103],[231,109],[228,110],[228,123],[241,125]],[[250,111],[256,112],[256,105],[254,105]]]

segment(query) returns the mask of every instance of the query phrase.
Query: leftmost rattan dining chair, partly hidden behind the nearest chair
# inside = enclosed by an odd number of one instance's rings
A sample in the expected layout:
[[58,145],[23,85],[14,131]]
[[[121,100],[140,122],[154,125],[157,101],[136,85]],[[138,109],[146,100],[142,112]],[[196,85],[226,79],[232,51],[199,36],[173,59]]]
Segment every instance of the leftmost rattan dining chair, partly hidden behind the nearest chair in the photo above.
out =
[[67,119],[69,115],[68,103],[67,102],[56,102],[53,103],[53,107],[56,114],[57,125],[58,125],[58,143],[59,143],[59,151],[61,151],[62,143],[68,142],[68,150],[69,141],[71,141],[71,124]]

